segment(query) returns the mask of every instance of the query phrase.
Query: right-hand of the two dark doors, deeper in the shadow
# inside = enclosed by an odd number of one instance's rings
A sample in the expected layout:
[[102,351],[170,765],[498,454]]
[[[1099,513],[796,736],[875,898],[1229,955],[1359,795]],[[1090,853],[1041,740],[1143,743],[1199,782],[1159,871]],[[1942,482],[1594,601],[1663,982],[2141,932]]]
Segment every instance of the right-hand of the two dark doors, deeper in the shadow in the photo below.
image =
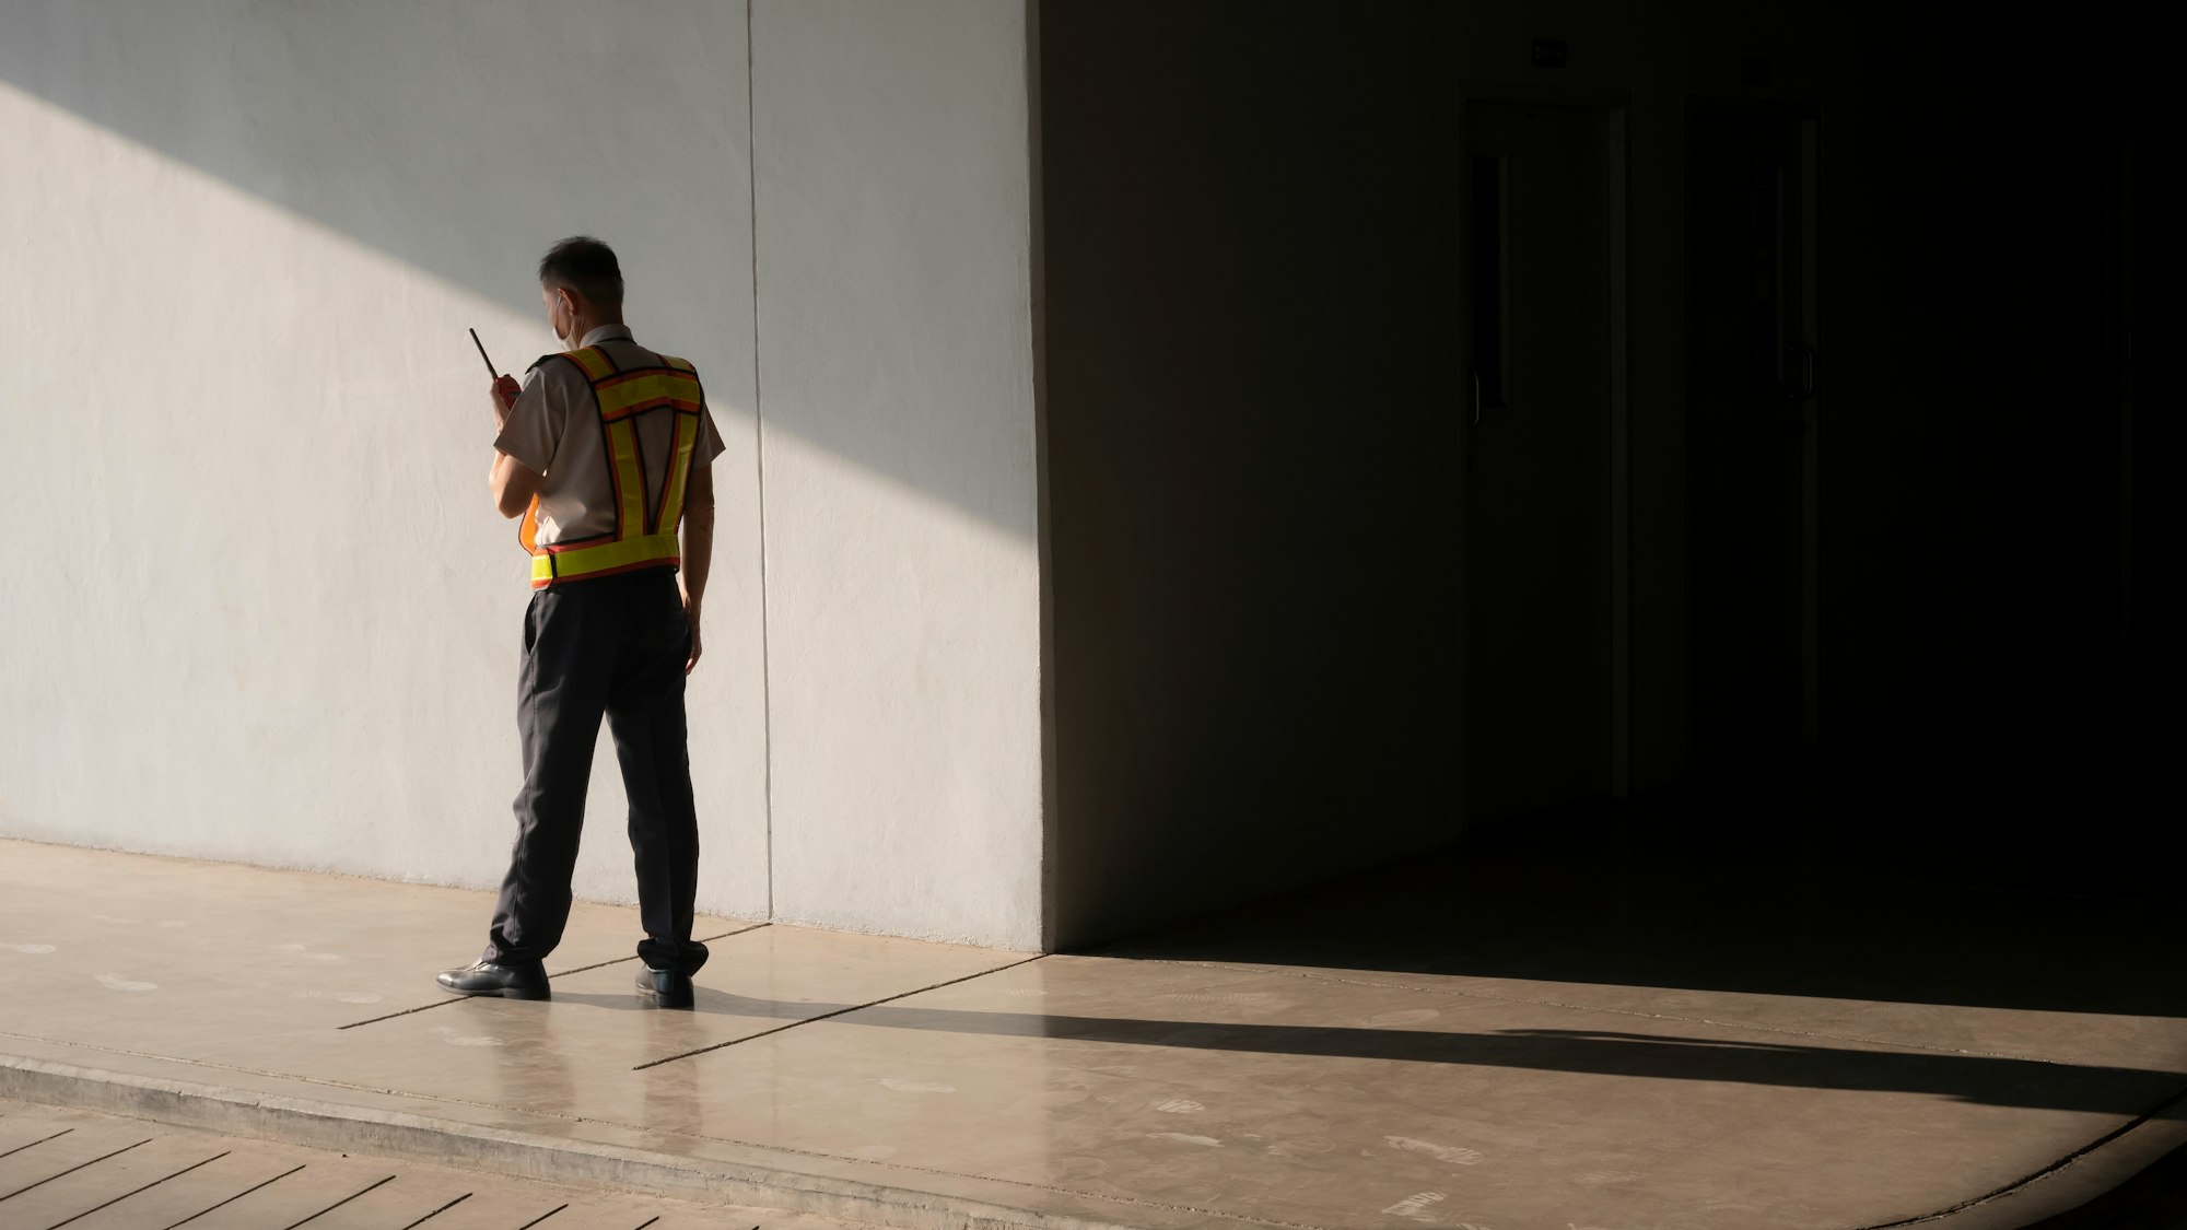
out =
[[1693,768],[1741,799],[1817,735],[1813,147],[1782,105],[1688,109]]

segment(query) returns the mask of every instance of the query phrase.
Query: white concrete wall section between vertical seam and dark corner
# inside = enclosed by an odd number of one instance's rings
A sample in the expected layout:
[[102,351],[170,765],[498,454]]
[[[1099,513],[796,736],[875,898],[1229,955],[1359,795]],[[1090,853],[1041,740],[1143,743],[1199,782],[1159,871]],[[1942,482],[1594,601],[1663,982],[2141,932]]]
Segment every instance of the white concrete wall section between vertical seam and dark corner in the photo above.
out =
[[752,18],[774,910],[1037,948],[1024,9]]

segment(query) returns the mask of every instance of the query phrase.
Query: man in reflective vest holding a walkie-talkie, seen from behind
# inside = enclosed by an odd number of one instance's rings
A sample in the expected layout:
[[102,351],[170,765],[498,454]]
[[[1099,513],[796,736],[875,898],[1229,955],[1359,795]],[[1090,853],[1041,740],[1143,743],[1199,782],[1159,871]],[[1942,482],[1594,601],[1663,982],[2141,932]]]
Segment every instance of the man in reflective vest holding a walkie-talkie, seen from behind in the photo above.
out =
[[[542,961],[562,939],[584,825],[584,788],[606,713],[630,794],[639,867],[639,996],[691,1007],[706,945],[691,939],[698,814],[685,744],[685,676],[700,657],[722,433],[698,372],[639,346],[623,324],[623,271],[597,239],[540,260],[547,324],[569,348],[518,387],[494,381],[494,468],[503,517],[523,517],[531,606],[516,681],[525,786],[516,849],[477,965],[440,985],[464,996],[545,1000]],[[682,541],[676,530],[682,523]]]

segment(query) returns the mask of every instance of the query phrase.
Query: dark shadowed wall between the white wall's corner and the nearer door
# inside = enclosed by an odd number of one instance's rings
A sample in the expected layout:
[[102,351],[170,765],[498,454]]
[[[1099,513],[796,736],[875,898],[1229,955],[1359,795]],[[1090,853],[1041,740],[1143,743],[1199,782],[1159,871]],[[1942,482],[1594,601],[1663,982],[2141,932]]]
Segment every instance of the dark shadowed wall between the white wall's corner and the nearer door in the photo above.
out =
[[1452,832],[1457,98],[1417,20],[1041,11],[1063,937]]

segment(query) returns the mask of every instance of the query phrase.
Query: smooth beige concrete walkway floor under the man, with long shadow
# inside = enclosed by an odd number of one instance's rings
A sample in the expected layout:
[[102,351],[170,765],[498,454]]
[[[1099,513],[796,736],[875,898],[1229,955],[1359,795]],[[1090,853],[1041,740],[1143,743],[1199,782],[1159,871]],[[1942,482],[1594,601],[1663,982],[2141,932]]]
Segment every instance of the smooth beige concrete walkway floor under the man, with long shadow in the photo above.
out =
[[[94,913],[96,910],[96,913]],[[2187,1140],[2176,904],[1562,851],[1096,954],[0,843],[0,1094],[892,1226],[2027,1226]],[[4,1206],[0,1206],[4,1208]]]

